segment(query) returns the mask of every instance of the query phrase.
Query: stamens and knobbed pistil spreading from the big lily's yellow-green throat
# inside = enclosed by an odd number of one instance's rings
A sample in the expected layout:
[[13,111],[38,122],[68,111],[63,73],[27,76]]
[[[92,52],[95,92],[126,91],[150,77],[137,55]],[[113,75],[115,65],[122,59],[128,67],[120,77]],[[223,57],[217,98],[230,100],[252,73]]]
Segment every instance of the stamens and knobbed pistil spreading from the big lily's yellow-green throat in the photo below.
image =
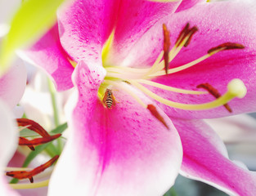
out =
[[[243,98],[246,94],[245,84],[240,79],[233,79],[227,85],[227,92],[224,95],[220,95],[218,90],[213,88],[208,83],[199,84],[197,87],[204,88],[206,91],[194,91],[194,90],[185,90],[177,87],[166,86],[157,82],[152,82],[151,80],[155,77],[164,76],[172,73],[177,73],[184,69],[189,69],[192,66],[199,64],[201,61],[208,59],[210,56],[215,55],[216,53],[224,50],[231,49],[242,49],[243,45],[239,43],[233,42],[225,42],[217,47],[210,48],[207,51],[207,54],[201,56],[200,58],[193,60],[186,65],[179,66],[177,68],[168,68],[169,63],[177,56],[179,51],[182,50],[182,47],[187,47],[191,42],[191,38],[193,34],[197,31],[197,28],[193,26],[190,28],[189,24],[186,24],[184,29],[182,29],[179,34],[177,41],[174,47],[170,50],[169,46],[169,32],[165,25],[163,25],[164,30],[164,49],[159,53],[159,56],[156,58],[155,63],[150,68],[145,69],[136,69],[130,67],[121,67],[121,66],[105,66],[107,71],[106,78],[104,82],[101,83],[101,87],[99,89],[99,97],[102,100],[102,103],[106,105],[108,109],[112,107],[112,105],[106,103],[106,93],[108,94],[111,89],[115,87],[121,87],[124,91],[127,91],[130,96],[132,96],[137,102],[144,108],[148,109],[148,105],[143,103],[143,101],[131,91],[128,85],[132,85],[132,87],[136,87],[140,91],[142,91],[147,96],[150,96],[153,100],[157,100],[164,105],[168,105],[177,109],[189,109],[189,110],[201,110],[201,109],[213,109],[218,106],[224,105],[226,109],[231,112],[230,107],[227,105],[227,102],[232,100],[235,97]],[[105,44],[105,47],[102,51],[102,61],[103,66],[104,62],[106,62],[106,58],[108,55],[108,51],[110,50],[112,40],[114,38],[114,33],[111,33],[110,38]],[[164,89],[170,91],[171,93],[182,93],[182,94],[191,94],[191,95],[203,95],[209,93],[213,95],[216,100],[204,103],[204,104],[184,104],[178,103],[172,100],[164,99],[161,96],[156,95],[153,91],[150,91],[144,85],[149,85],[151,87],[157,87],[160,89]],[[113,102],[115,97],[113,96],[113,92],[111,92],[112,97],[108,96],[110,102]],[[115,101],[115,100],[114,100]]]

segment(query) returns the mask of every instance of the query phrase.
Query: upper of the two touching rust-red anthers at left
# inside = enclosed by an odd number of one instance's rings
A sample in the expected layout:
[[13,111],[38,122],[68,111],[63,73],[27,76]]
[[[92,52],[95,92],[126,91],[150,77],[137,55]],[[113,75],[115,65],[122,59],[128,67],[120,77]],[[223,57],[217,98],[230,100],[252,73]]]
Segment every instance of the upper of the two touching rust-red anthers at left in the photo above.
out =
[[33,120],[29,120],[27,118],[17,118],[16,119],[19,127],[27,127],[31,131],[37,132],[40,136],[47,137],[50,136],[45,129],[38,124],[38,122],[34,122]]

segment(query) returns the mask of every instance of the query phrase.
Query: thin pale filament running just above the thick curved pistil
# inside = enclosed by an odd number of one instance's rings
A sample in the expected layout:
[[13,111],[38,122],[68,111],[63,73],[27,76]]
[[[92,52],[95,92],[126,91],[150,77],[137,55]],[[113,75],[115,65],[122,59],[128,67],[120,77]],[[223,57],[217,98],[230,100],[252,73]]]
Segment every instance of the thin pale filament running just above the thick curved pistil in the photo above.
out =
[[167,90],[167,91],[173,91],[173,92],[177,92],[177,93],[191,94],[191,95],[202,95],[202,94],[207,94],[208,93],[206,91],[191,91],[191,90],[185,90],[185,89],[176,88],[176,87],[169,87],[169,86],[166,86],[164,84],[160,84],[160,83],[157,83],[157,82],[152,82],[152,81],[145,80],[145,79],[139,79],[139,80],[136,80],[136,81],[140,82],[140,83],[150,85],[152,87],[158,87],[158,88],[161,88],[161,89],[164,89],[164,90]]

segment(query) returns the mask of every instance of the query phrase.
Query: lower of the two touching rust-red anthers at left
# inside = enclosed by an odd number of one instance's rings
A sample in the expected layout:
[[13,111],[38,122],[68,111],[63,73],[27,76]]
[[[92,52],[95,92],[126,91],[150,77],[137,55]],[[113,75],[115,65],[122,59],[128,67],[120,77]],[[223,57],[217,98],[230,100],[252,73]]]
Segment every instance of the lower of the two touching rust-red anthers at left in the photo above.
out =
[[[47,136],[47,137],[42,137],[42,138],[36,138],[34,140],[28,140],[24,137],[20,137],[20,140],[19,140],[19,145],[28,145],[29,146],[33,146],[33,145],[43,145],[43,144],[46,144],[52,140],[56,140],[58,137],[61,136],[61,133],[58,133],[56,135],[53,135],[53,136]],[[29,149],[31,149],[29,147]],[[34,149],[33,149],[34,150]]]

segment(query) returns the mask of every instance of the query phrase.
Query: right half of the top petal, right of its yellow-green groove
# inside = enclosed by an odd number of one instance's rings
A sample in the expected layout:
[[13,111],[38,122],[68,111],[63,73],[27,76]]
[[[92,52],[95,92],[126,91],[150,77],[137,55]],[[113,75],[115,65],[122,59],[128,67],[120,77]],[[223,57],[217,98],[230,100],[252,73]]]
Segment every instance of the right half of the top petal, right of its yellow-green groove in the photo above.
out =
[[161,18],[176,11],[181,2],[181,0],[175,2],[121,1],[113,45],[107,63],[124,64],[124,57],[141,36]]

